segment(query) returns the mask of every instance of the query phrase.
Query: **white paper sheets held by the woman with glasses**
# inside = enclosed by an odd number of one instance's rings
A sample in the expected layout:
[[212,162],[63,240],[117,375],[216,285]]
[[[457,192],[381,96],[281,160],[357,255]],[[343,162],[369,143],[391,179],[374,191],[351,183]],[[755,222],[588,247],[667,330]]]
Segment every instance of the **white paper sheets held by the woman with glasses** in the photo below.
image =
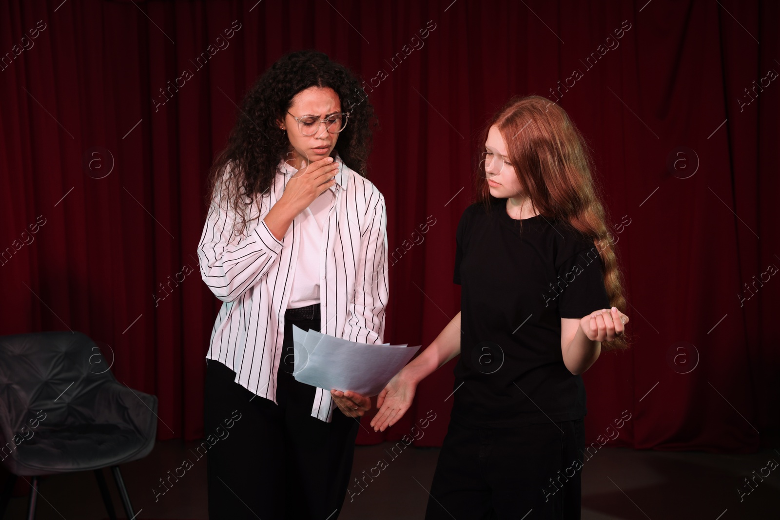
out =
[[307,333],[293,325],[293,377],[328,391],[376,395],[409,363],[420,346],[369,345],[316,331]]

